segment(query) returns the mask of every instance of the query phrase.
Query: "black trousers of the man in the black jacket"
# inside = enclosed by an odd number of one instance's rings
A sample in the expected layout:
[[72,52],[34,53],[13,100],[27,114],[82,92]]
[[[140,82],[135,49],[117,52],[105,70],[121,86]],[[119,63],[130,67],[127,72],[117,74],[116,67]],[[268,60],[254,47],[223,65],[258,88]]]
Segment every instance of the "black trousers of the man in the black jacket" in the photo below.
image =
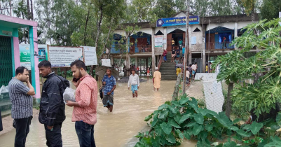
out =
[[44,126],[46,130],[47,146],[62,147],[62,123],[55,124],[53,130],[48,130],[47,125]]

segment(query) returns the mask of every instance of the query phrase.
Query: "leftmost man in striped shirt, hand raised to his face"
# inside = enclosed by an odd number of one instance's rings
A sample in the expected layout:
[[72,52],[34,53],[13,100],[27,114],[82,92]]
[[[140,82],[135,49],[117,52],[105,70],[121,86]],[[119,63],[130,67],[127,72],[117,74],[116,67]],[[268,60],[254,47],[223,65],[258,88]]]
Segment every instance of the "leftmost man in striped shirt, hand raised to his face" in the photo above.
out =
[[[24,84],[27,83],[27,86]],[[32,120],[32,106],[35,94],[34,87],[29,82],[29,72],[24,66],[15,70],[15,78],[9,82],[9,94],[12,102],[12,118],[15,127],[15,146],[25,146],[29,125]],[[1,113],[0,113],[1,116]],[[0,117],[1,119],[1,117]],[[0,120],[1,123],[1,120]],[[2,124],[0,124],[0,131]]]

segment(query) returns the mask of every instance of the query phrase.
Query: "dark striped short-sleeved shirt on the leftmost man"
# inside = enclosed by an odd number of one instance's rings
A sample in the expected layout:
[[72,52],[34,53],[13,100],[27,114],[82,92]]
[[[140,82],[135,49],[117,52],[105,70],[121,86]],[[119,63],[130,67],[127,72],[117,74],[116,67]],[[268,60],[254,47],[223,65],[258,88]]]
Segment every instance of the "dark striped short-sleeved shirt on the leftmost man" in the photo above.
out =
[[29,87],[17,78],[9,82],[9,94],[12,103],[12,118],[28,118],[33,114],[33,98],[27,92]]

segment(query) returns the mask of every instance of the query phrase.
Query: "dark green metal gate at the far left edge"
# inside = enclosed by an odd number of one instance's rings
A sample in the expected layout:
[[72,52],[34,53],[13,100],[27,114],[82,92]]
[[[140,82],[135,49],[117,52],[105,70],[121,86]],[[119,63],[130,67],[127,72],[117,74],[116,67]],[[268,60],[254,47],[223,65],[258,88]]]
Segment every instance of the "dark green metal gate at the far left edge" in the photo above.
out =
[[11,37],[0,36],[0,87],[13,77]]

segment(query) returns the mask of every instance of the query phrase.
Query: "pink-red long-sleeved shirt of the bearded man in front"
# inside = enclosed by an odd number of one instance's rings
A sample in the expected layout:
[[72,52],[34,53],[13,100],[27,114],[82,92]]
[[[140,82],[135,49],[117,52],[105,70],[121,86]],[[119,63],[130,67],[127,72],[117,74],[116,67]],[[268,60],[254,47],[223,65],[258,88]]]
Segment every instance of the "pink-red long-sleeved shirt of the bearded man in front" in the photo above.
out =
[[80,107],[74,106],[72,121],[83,121],[89,125],[97,123],[97,81],[87,75],[80,78],[75,99]]

